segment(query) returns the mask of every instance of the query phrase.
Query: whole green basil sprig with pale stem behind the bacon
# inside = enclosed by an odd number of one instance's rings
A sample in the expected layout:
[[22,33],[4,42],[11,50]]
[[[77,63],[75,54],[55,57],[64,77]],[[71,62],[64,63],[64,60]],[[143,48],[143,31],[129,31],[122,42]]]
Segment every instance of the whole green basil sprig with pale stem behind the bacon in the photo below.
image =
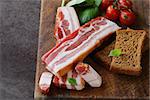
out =
[[102,0],[71,0],[66,6],[76,9],[81,25],[99,15],[99,6]]

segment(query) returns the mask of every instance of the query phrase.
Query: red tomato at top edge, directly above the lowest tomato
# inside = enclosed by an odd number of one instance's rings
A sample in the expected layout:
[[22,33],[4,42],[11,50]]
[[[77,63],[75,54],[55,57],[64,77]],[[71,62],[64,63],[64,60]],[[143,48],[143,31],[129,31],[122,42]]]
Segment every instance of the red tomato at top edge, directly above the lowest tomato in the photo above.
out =
[[131,0],[119,0],[118,7],[120,9],[131,9],[132,8],[132,1]]

